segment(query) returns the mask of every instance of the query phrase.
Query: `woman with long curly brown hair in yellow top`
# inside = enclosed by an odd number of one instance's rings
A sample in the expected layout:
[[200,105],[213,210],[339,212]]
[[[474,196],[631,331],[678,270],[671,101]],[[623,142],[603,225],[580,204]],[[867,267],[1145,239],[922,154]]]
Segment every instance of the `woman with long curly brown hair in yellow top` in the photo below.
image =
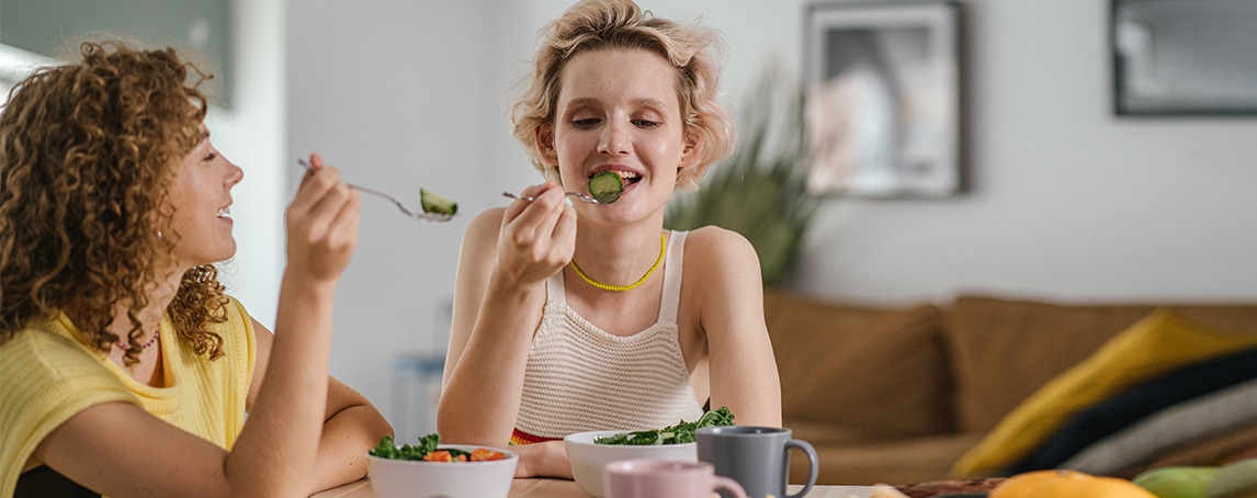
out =
[[0,495],[309,495],[391,433],[328,375],[360,197],[312,156],[277,333],[224,293],[231,187],[205,75],[84,43],[0,116]]

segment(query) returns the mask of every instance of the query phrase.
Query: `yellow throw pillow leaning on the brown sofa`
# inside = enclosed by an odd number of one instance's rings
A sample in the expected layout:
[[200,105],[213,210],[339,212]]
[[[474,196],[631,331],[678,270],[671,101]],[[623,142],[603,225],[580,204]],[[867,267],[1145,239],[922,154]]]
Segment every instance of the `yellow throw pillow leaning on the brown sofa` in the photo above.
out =
[[952,472],[999,473],[1038,448],[1071,415],[1097,401],[1170,370],[1254,345],[1257,335],[1213,331],[1158,309],[1017,405]]

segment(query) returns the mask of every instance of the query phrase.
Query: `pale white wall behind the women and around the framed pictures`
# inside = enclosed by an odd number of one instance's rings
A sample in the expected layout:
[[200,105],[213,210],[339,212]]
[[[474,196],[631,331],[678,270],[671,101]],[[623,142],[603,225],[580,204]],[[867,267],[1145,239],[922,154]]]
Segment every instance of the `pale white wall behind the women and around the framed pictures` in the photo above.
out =
[[[287,4],[284,160],[319,151],[349,181],[414,201],[429,187],[464,213],[424,224],[366,201],[338,294],[332,367],[390,418],[395,355],[444,347],[440,309],[466,221],[500,205],[498,192],[538,180],[509,136],[507,106],[537,30],[568,5]],[[725,33],[730,102],[769,58],[798,70],[803,5],[645,4],[665,16],[703,15]],[[1257,299],[1257,121],[1112,117],[1104,1],[973,0],[965,9],[974,190],[828,202],[798,289],[880,302],[969,290]]]

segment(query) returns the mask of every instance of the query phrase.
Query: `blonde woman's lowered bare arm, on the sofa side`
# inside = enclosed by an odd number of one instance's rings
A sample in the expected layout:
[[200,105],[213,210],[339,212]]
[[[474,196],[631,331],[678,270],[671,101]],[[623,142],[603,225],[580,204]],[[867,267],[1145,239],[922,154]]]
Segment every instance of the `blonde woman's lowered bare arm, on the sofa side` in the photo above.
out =
[[729,406],[739,425],[781,426],[781,380],[755,249],[714,226],[691,233],[685,246],[684,282],[706,335],[711,407]]

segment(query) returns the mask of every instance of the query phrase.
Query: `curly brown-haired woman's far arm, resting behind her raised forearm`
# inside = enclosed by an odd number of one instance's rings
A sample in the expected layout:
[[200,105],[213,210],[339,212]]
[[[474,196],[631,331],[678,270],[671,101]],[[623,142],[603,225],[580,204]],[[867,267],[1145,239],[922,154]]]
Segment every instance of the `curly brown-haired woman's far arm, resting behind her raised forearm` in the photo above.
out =
[[[258,342],[258,361],[249,389],[250,411],[266,375],[274,342],[274,336],[261,323],[254,321],[253,329]],[[309,473],[309,493],[351,483],[367,475],[367,450],[380,444],[380,438],[386,434],[393,434],[392,426],[375,405],[360,392],[329,376],[323,434],[319,438],[314,469]]]

